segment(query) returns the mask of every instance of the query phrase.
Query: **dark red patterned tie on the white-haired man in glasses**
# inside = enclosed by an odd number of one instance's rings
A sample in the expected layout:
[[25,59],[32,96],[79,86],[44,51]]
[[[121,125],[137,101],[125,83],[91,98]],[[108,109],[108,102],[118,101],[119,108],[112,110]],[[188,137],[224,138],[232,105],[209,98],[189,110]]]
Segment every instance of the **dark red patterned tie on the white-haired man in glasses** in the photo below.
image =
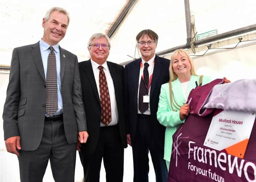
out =
[[103,66],[98,66],[99,73],[99,87],[101,100],[101,122],[106,126],[111,122],[111,105],[110,96],[107,87],[107,79],[103,71]]

